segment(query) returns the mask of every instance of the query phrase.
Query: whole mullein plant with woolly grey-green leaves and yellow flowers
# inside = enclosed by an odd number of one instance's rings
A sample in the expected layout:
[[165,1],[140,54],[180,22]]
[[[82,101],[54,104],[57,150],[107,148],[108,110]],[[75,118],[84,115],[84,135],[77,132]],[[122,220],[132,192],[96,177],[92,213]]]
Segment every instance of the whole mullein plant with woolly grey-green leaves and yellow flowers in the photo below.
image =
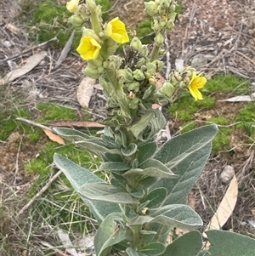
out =
[[[180,89],[202,100],[199,89],[207,82],[187,66],[172,71],[161,88],[156,87],[157,73],[163,66],[158,58],[164,53],[165,33],[173,29],[176,3],[145,3],[156,33],[152,50],[135,37],[134,31],[128,36],[118,17],[103,24],[101,8],[94,0],[81,4],[71,0],[66,7],[73,13],[71,24],[82,27],[77,52],[88,63],[84,74],[99,79],[104,89],[107,115],[105,133],[100,137],[70,128],[54,131],[101,157],[98,170],[107,172],[110,181],[64,156],[55,154],[54,162],[99,223],[94,236],[96,255],[205,255],[207,249],[202,250],[201,234],[196,230],[203,225],[202,220],[186,202],[207,162],[218,128],[197,128],[173,137],[160,149],[156,144],[156,135],[166,120],[152,105],[173,103],[173,94]],[[116,55],[124,43],[124,56]],[[190,232],[167,245],[167,236],[175,228]],[[210,232],[207,235],[213,242],[215,236]]]

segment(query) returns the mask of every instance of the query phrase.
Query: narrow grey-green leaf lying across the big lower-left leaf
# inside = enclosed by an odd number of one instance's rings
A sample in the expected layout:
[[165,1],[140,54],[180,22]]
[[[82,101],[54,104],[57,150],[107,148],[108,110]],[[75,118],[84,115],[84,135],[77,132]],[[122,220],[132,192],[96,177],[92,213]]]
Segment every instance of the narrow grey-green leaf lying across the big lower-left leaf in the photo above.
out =
[[92,200],[116,202],[123,204],[137,204],[138,201],[126,191],[113,185],[104,183],[90,183],[82,185],[78,193]]

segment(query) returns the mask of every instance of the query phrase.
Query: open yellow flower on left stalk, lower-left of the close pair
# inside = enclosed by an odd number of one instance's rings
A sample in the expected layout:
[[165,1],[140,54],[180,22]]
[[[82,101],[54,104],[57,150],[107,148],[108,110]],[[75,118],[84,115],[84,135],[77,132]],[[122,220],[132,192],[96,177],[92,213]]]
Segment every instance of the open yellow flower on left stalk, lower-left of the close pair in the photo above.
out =
[[83,60],[95,60],[99,55],[101,46],[93,37],[82,37],[77,52]]

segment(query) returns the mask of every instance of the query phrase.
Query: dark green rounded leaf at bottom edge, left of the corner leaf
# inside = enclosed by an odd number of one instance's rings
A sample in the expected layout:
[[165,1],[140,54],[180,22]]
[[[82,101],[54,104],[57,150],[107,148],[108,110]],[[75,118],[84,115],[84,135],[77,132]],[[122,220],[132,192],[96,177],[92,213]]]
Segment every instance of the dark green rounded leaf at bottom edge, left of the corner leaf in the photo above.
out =
[[166,251],[161,254],[161,256],[197,256],[201,251],[202,245],[201,234],[198,231],[193,230],[174,240],[167,246]]

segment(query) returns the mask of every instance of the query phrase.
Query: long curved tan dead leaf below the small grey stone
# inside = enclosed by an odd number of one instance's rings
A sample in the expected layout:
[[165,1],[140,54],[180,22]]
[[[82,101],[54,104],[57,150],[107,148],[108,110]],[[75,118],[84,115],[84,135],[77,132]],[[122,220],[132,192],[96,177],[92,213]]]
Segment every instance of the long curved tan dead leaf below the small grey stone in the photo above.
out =
[[[234,169],[233,169],[234,173]],[[238,195],[238,184],[237,179],[234,174],[233,178],[229,183],[229,188],[226,191],[224,198],[220,202],[216,213],[212,216],[210,223],[207,225],[206,230],[219,230],[227,222],[233,210],[235,208],[235,203],[237,201]]]

